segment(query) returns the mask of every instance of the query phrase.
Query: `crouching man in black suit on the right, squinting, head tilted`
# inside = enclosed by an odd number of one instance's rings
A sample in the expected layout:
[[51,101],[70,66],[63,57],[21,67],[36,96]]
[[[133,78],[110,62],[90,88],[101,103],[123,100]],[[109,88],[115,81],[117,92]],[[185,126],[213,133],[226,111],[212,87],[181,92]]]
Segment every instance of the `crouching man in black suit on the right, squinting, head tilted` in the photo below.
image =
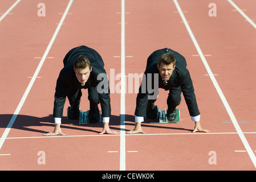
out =
[[[149,84],[151,85],[148,86]],[[167,98],[168,121],[173,121],[177,115],[176,106],[181,102],[182,92],[191,119],[195,124],[193,133],[196,131],[210,132],[201,127],[200,112],[192,80],[188,69],[186,69],[185,58],[172,49],[164,48],[153,52],[148,57],[147,68],[136,99],[135,129],[128,131],[128,134],[144,133],[141,129],[141,122],[144,121],[146,111],[149,118],[156,118],[157,110],[154,102],[157,99],[159,88],[169,91]]]

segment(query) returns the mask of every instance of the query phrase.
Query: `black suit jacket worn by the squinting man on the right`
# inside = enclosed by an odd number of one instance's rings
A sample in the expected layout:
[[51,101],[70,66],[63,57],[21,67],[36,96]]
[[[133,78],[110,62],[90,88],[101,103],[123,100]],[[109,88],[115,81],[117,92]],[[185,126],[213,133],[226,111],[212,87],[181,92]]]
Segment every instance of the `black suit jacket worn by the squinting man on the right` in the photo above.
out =
[[[162,82],[162,78],[159,74],[159,69],[157,69],[157,63],[160,56],[163,53],[166,53],[167,51],[173,53],[176,59],[176,67],[173,70],[172,76],[170,77],[168,84],[164,85],[164,83]],[[147,85],[148,73],[156,73],[158,75],[159,77],[158,88],[171,90],[172,88],[177,88],[180,86],[186,101],[186,105],[188,106],[190,116],[197,116],[200,114],[197,106],[196,96],[194,94],[193,83],[190,78],[189,71],[188,69],[186,69],[186,60],[182,55],[180,55],[180,53],[175,52],[172,49],[168,49],[168,48],[159,49],[153,52],[148,57],[148,60],[147,60],[147,68],[144,72],[145,77],[143,79],[143,81],[145,81],[144,83],[146,84],[144,85]],[[152,87],[153,85],[154,85],[154,79],[152,78]],[[147,109],[147,104],[148,104],[149,90],[146,89],[146,92],[141,92],[142,91],[141,86],[136,98],[135,115],[139,117],[144,117],[145,111]]]

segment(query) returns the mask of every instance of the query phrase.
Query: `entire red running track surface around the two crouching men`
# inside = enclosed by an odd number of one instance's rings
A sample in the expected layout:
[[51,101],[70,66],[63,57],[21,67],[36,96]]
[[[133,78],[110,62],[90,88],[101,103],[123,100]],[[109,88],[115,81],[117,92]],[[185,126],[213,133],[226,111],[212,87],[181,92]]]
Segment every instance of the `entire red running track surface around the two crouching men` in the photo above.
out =
[[[1,1],[0,16],[15,2]],[[174,1],[74,0],[8,128],[69,2],[44,1],[46,16],[39,17],[40,1],[21,1],[0,22],[0,170],[255,170],[256,34],[228,1],[177,2],[238,125],[233,124],[234,118],[209,77]],[[233,2],[255,19],[255,1]],[[216,3],[217,16],[208,15],[210,3]],[[121,32],[122,25],[125,32]],[[81,45],[100,53],[108,76],[115,70],[114,86],[120,84],[117,74],[121,67],[128,81],[129,73],[144,72],[147,57],[156,49],[168,47],[180,52],[193,80],[202,127],[211,132],[192,133],[194,122],[182,98],[177,124],[151,124],[145,119],[145,134],[126,134],[135,125],[137,96],[128,93],[127,87],[124,98],[117,89],[111,93],[109,124],[120,135],[98,135],[102,123],[74,126],[63,118],[64,137],[43,137],[54,129],[52,109],[62,60],[67,51]],[[160,89],[156,102],[160,109],[166,107],[167,95]],[[120,102],[122,99],[125,102]],[[83,90],[80,107],[87,110],[88,106],[87,90]],[[125,111],[124,122],[121,110]],[[38,164],[40,151],[46,164]],[[216,164],[209,163],[211,151]]]

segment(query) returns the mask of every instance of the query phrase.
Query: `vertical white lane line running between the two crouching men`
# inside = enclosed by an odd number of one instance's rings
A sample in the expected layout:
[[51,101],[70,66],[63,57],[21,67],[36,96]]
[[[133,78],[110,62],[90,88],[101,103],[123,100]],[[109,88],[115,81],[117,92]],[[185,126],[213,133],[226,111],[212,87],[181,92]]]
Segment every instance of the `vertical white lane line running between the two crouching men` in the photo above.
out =
[[125,0],[121,0],[120,171],[125,171]]

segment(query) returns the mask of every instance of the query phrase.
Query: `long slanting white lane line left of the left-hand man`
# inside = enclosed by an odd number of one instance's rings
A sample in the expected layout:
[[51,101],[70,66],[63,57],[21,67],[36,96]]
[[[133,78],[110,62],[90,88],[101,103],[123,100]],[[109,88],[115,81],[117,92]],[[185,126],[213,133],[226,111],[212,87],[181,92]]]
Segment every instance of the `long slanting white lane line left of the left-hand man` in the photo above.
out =
[[10,120],[10,122],[8,123],[8,125],[7,125],[7,127],[6,127],[6,129],[5,129],[5,132],[3,133],[3,135],[2,135],[2,137],[1,137],[1,139],[0,139],[0,150],[1,150],[2,146],[3,146],[3,142],[5,142],[5,139],[6,139],[7,135],[9,134],[9,132],[10,132],[10,130],[11,130],[11,127],[13,126],[13,123],[15,122],[15,119],[17,118],[17,116],[18,116],[18,114],[19,114],[19,111],[21,111],[21,108],[22,108],[22,106],[23,106],[23,104],[24,104],[24,102],[25,102],[27,96],[29,95],[30,89],[32,88],[32,85],[34,84],[35,79],[36,79],[36,77],[38,76],[38,73],[39,73],[40,69],[42,68],[42,65],[43,65],[43,63],[44,63],[44,60],[46,59],[46,57],[47,57],[47,55],[48,55],[48,52],[50,51],[51,46],[52,46],[52,44],[54,43],[54,40],[55,40],[56,36],[58,35],[58,32],[59,32],[59,30],[60,30],[60,27],[62,26],[62,23],[63,23],[64,19],[66,18],[66,15],[67,15],[68,10],[70,9],[70,7],[71,7],[71,5],[72,5],[72,2],[73,2],[73,0],[70,0],[70,2],[68,3],[67,8],[66,8],[66,10],[65,10],[65,12],[64,12],[64,14],[63,14],[63,16],[62,16],[62,19],[60,19],[60,22],[59,22],[59,24],[58,24],[58,27],[56,28],[56,30],[55,30],[55,32],[54,32],[54,35],[52,36],[51,41],[50,41],[50,43],[48,44],[48,46],[47,46],[47,48],[46,48],[46,51],[44,52],[43,57],[42,57],[42,59],[40,60],[40,63],[38,64],[38,67],[36,68],[35,73],[34,73],[34,75],[32,76],[32,78],[31,78],[31,80],[30,80],[30,82],[29,82],[29,85],[27,86],[27,89],[26,89],[25,93],[23,94],[23,96],[22,96],[22,98],[21,98],[21,101],[19,102],[18,107],[17,107],[16,110],[14,111],[13,117],[11,117],[11,120]]

